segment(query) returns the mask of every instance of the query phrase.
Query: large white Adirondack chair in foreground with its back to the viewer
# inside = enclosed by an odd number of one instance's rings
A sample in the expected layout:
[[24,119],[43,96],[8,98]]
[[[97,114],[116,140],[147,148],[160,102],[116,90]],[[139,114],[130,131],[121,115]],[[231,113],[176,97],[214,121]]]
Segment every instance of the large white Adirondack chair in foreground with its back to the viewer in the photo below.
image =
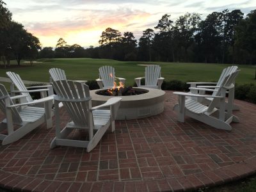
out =
[[[87,148],[87,152],[90,152],[99,143],[108,127],[112,132],[115,131],[116,112],[122,98],[111,98],[106,103],[92,108],[92,98],[86,84],[60,80],[54,81],[53,87],[57,94],[54,95],[56,137],[51,142],[51,148],[56,145],[84,147]],[[59,102],[63,103],[72,120],[62,131],[60,130]],[[89,139],[81,141],[67,138],[74,129],[87,129]]]

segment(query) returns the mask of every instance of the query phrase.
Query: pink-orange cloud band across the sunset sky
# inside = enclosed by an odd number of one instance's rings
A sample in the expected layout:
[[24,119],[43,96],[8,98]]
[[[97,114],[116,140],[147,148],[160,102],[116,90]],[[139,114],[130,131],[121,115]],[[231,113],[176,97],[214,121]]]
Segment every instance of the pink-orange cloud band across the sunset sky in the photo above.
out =
[[[147,18],[149,13],[138,10],[120,9],[115,12],[87,11],[74,20],[61,20],[52,22],[25,22],[24,26],[35,35],[67,35],[70,31],[91,31],[110,28],[127,28],[136,24],[136,20]],[[119,29],[118,29],[119,30]],[[125,29],[129,31],[129,29]]]

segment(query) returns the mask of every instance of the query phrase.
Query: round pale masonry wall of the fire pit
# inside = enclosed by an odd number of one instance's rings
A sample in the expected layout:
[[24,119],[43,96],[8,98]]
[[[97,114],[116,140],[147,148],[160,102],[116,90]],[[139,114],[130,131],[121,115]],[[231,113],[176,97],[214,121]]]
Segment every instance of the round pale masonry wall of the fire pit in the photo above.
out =
[[129,96],[105,96],[97,94],[104,89],[92,90],[90,91],[92,106],[103,104],[111,97],[122,97],[116,120],[143,118],[163,112],[165,94],[163,90],[137,87],[134,87],[133,89],[138,92],[146,93]]

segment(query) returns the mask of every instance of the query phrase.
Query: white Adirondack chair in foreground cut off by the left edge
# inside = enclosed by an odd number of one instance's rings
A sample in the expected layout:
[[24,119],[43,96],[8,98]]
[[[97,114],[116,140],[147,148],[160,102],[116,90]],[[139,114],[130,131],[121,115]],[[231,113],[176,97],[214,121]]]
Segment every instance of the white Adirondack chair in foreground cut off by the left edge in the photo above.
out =
[[[52,127],[51,108],[48,107],[49,104],[47,103],[52,102],[53,96],[32,102],[13,104],[13,100],[19,99],[20,97],[26,97],[26,95],[10,97],[3,84],[0,84],[0,109],[6,115],[6,118],[0,124],[0,140],[2,141],[2,145],[19,140],[44,122],[46,122],[47,129]],[[29,104],[38,103],[44,103],[45,108],[28,106]],[[20,106],[23,106],[23,108],[19,108]],[[14,125],[18,125],[19,128],[14,130]],[[6,129],[7,133],[4,131]]]

